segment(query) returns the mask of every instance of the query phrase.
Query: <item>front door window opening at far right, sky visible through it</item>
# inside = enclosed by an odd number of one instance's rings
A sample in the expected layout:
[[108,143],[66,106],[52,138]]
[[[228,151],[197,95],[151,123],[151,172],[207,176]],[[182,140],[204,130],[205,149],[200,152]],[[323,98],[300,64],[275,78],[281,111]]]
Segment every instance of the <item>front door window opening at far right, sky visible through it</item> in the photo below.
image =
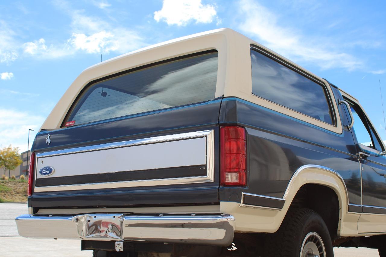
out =
[[383,146],[379,140],[378,135],[376,134],[374,128],[371,126],[369,119],[362,111],[362,109],[348,101],[350,104],[350,109],[354,117],[354,133],[357,138],[358,143],[361,147],[369,147],[378,151],[383,151]]

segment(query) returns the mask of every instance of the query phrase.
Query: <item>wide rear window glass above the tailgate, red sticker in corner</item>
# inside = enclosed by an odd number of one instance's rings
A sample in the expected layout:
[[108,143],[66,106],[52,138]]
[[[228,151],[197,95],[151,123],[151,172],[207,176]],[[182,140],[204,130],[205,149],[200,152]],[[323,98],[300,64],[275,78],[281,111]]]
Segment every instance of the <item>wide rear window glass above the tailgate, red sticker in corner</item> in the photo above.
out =
[[217,52],[209,52],[95,83],[81,95],[65,126],[213,100],[217,64]]

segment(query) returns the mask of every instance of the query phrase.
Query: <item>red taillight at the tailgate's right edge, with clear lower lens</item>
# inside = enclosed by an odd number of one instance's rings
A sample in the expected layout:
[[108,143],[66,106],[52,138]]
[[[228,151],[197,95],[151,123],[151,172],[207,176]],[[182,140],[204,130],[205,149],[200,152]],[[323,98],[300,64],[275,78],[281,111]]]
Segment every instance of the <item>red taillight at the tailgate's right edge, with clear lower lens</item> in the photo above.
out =
[[247,184],[247,141],[243,127],[220,127],[220,182],[222,186]]

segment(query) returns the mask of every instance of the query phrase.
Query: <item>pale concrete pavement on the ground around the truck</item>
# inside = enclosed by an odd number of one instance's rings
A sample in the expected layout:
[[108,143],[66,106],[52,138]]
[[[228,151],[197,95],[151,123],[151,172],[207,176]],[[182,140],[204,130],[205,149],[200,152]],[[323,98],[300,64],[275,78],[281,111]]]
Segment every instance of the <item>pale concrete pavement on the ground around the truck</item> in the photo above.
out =
[[[19,237],[15,217],[27,214],[24,203],[0,204],[0,256],[13,257],[91,257],[91,251],[80,250],[80,240],[31,239]],[[335,257],[378,257],[378,250],[334,248]]]

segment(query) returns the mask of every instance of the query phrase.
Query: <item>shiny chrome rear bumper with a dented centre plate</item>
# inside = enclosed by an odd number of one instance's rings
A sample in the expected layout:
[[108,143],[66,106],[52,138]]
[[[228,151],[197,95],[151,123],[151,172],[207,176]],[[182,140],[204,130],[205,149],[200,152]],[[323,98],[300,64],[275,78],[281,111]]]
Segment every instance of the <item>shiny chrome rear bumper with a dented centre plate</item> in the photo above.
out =
[[21,215],[17,230],[29,238],[74,238],[228,246],[235,220],[231,215]]

